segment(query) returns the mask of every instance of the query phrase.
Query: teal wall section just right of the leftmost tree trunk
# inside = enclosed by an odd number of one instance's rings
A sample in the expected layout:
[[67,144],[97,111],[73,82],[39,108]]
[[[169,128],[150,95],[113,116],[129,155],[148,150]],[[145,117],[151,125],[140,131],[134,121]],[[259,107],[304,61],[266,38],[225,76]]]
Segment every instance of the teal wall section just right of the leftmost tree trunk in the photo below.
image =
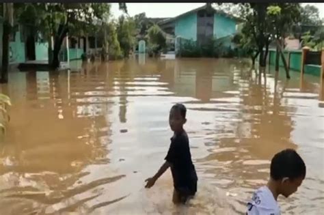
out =
[[21,32],[17,31],[14,42],[9,43],[11,57],[10,63],[25,62],[25,42],[21,42]]

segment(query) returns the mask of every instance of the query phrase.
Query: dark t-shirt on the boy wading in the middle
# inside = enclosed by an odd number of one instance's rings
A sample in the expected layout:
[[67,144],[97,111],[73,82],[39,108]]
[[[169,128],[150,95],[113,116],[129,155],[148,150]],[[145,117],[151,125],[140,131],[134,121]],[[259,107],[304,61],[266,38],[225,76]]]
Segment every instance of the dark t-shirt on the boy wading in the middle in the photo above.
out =
[[191,160],[189,139],[185,131],[174,134],[171,138],[171,145],[165,160],[172,164],[174,188],[178,190],[189,188],[190,192],[195,192],[198,177]]

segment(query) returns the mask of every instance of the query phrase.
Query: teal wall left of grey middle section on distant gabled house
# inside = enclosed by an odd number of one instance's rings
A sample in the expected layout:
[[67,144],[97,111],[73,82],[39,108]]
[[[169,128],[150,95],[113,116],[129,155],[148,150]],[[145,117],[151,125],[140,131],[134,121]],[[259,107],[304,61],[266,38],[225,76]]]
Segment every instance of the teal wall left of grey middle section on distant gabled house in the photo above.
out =
[[197,40],[197,14],[191,13],[179,17],[174,26],[174,33],[187,40]]

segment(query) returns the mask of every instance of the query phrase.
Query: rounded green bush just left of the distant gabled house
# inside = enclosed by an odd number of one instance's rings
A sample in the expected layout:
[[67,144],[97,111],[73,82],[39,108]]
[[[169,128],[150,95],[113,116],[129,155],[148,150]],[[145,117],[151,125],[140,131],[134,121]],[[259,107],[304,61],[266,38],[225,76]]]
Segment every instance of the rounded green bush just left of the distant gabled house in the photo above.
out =
[[167,47],[165,33],[163,33],[159,25],[152,25],[148,29],[148,47],[150,52],[155,55]]

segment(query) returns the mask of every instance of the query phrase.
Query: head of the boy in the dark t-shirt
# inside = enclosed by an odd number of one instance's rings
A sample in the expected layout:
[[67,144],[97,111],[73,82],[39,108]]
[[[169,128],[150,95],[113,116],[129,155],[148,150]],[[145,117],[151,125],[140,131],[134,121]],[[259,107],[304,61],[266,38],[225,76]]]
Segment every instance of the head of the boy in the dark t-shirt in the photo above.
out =
[[169,124],[171,130],[174,132],[183,130],[183,124],[185,124],[187,121],[186,113],[187,109],[185,105],[177,103],[172,106],[169,115]]

